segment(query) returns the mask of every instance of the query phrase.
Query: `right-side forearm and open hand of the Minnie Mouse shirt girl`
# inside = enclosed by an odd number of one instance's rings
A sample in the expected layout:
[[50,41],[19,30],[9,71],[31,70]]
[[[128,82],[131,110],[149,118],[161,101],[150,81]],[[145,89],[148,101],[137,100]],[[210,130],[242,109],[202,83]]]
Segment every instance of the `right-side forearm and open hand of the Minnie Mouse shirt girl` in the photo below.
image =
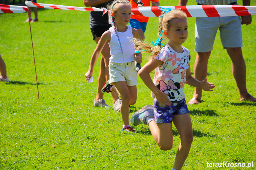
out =
[[204,79],[203,81],[200,82],[199,80],[191,76],[190,65],[186,72],[186,84],[196,88],[201,88],[205,91],[213,91],[211,89],[215,87],[212,83],[207,82],[207,79]]

